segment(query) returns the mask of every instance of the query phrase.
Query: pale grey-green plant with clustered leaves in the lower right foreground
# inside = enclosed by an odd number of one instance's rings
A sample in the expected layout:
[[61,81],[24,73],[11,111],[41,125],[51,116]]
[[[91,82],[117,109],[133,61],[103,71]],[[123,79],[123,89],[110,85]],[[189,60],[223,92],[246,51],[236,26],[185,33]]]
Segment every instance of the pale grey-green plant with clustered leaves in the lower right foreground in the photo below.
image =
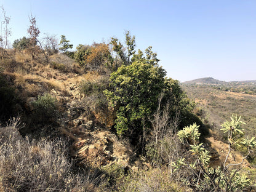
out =
[[[185,158],[178,159],[173,162],[174,171],[186,167],[190,169],[196,177],[191,176],[188,180],[189,185],[196,188],[197,191],[241,191],[250,185],[251,180],[247,175],[240,174],[239,170],[242,169],[242,162],[255,148],[255,138],[239,138],[233,137],[234,134],[242,132],[241,117],[236,115],[231,116],[231,121],[226,121],[222,124],[223,134],[228,134],[228,146],[229,150],[226,154],[226,159],[222,167],[217,169],[209,167],[210,156],[209,151],[204,148],[203,143],[198,144],[199,132],[196,124],[190,127],[185,127],[178,132],[178,137],[184,145],[189,146],[190,154],[194,156],[194,161],[185,161]],[[231,164],[227,162],[230,156],[231,147],[236,145],[245,145],[248,150],[247,156],[245,156],[241,162]],[[239,167],[234,167],[239,166]]]

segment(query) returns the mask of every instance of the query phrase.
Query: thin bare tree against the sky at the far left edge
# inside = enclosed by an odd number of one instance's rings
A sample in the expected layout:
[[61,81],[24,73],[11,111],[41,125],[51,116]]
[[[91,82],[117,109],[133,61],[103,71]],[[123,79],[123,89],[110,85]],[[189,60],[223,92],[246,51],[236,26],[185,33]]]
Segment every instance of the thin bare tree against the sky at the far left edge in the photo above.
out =
[[10,23],[10,17],[6,16],[6,10],[4,10],[4,6],[1,6],[1,30],[0,30],[0,48],[1,48],[1,59],[4,57],[6,53],[6,47],[8,45],[8,38],[12,34],[12,31],[10,31],[9,23]]

